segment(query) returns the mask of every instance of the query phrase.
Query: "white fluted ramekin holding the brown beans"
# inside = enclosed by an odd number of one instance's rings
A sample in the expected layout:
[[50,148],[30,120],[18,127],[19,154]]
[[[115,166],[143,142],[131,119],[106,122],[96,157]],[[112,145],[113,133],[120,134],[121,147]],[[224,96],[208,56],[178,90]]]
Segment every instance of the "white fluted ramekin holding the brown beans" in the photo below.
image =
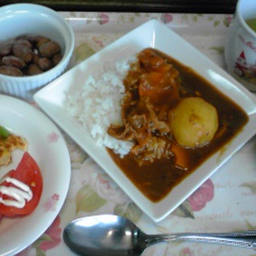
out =
[[68,66],[74,50],[74,33],[58,12],[37,4],[9,4],[0,8],[0,44],[22,34],[41,35],[60,44],[62,60],[52,69],[34,76],[0,74],[0,93],[23,100],[48,84]]

